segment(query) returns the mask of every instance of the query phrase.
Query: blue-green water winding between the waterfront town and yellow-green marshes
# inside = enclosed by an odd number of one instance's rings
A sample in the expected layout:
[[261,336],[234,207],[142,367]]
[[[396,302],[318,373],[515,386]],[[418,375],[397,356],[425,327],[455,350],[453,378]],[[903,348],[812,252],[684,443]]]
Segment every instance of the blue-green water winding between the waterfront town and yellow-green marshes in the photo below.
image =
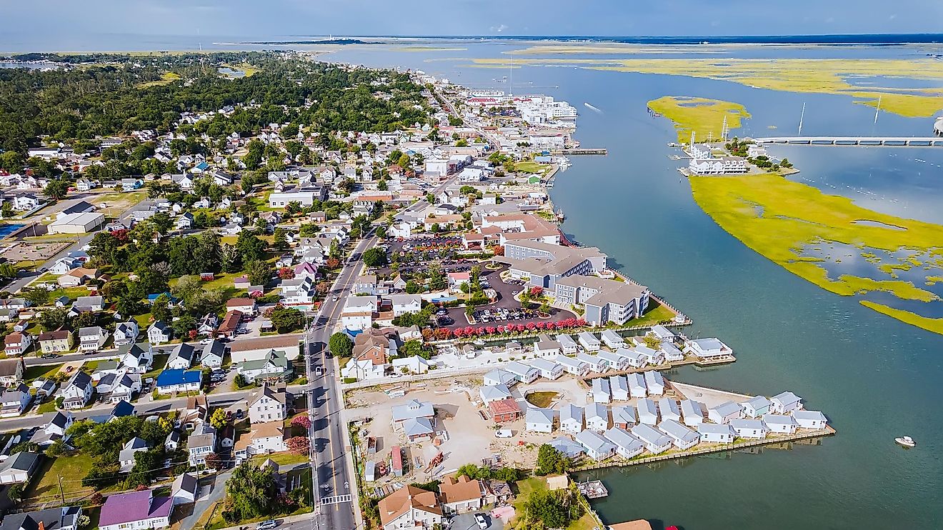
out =
[[[465,66],[512,49],[470,44],[469,51],[396,53],[355,50],[327,56],[374,66],[400,65],[447,75],[472,87],[499,87],[508,72]],[[909,48],[743,48],[730,57],[910,57]],[[568,56],[570,57],[570,56]],[[438,60],[428,61],[435,58]],[[533,84],[531,84],[533,83]],[[506,84],[505,84],[506,85]],[[547,88],[559,86],[559,89]],[[506,90],[502,87],[502,90]],[[522,67],[514,91],[545,92],[578,108],[576,138],[607,157],[571,157],[552,197],[567,214],[568,236],[599,246],[623,272],[685,311],[690,335],[717,336],[733,365],[672,373],[679,381],[772,395],[792,390],[821,409],[838,431],[820,445],[760,454],[699,457],[656,469],[593,472],[611,492],[595,503],[604,522],[644,518],[685,530],[730,528],[930,528],[943,525],[938,501],[943,427],[943,337],[889,319],[787,273],[724,232],[697,207],[666,143],[670,124],[652,118],[663,95],[719,98],[753,114],[740,136],[803,134],[925,136],[932,119],[908,119],[833,95],[764,91],[735,83],[667,75]],[[583,108],[587,102],[601,113]],[[775,125],[775,129],[770,129]],[[802,169],[796,179],[852,197],[864,207],[943,222],[943,149],[776,146]],[[915,159],[925,160],[924,162]],[[832,188],[828,185],[833,185]],[[847,186],[847,187],[846,187]],[[872,197],[853,189],[873,190]],[[894,438],[918,440],[903,451]]]

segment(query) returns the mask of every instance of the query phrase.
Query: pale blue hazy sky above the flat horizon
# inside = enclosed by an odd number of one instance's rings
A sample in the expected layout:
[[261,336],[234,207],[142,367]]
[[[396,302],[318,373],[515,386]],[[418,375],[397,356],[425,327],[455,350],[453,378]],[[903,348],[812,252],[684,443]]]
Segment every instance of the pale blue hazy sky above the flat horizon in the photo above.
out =
[[717,36],[943,31],[943,0],[0,0],[16,34]]

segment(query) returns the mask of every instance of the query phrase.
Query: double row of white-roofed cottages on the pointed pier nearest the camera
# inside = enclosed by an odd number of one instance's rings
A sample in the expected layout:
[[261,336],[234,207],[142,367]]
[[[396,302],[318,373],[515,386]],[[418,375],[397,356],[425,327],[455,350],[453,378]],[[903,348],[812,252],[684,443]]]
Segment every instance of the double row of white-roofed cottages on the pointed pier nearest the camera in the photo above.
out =
[[[765,402],[765,405],[764,405]],[[759,406],[757,408],[756,406]],[[531,407],[526,429],[552,433],[556,411]],[[797,429],[823,430],[828,424],[817,410],[803,410],[798,396],[783,392],[767,400],[756,396],[743,404],[725,402],[707,409],[692,400],[665,397],[642,398],[636,406],[601,403],[585,407],[564,405],[559,411],[560,430],[573,435],[591,458],[613,455],[632,458],[648,451],[659,455],[671,447],[687,450],[698,443],[733,443],[734,439],[764,439],[769,433],[794,434]]]

